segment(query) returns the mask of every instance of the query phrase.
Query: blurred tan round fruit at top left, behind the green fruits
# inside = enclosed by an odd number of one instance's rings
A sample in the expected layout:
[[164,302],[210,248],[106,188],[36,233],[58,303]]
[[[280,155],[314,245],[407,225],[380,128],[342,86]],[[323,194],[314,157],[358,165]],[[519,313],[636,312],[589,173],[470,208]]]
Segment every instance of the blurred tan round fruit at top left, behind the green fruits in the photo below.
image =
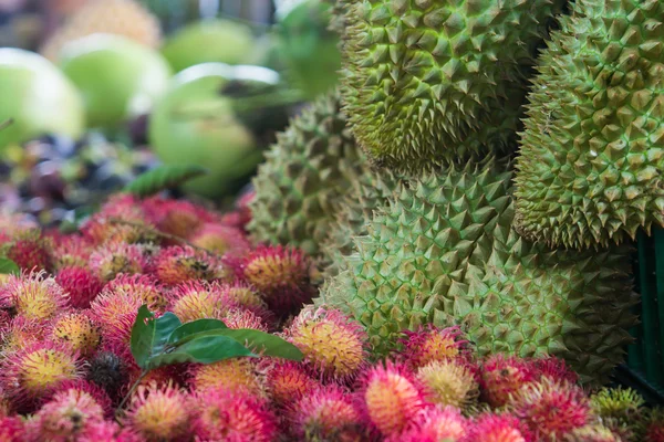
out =
[[43,44],[40,53],[58,60],[62,46],[94,33],[122,35],[148,48],[162,41],[159,20],[134,0],[93,0],[79,8]]

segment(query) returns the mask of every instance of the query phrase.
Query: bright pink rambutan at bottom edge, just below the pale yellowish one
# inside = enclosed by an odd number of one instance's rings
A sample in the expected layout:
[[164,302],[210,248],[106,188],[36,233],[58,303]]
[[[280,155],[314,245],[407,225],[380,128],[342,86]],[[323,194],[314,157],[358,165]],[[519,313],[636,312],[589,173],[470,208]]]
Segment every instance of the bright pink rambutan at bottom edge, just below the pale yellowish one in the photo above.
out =
[[460,442],[466,434],[466,419],[454,407],[426,407],[406,430],[385,442]]

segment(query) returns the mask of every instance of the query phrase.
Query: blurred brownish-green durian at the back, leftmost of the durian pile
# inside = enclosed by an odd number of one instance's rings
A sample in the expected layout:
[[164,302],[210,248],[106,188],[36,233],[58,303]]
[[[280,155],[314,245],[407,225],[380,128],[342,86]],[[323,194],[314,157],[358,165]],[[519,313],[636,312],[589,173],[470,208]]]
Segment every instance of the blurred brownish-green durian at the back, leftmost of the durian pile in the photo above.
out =
[[266,154],[250,203],[255,240],[321,253],[340,200],[365,167],[340,107],[338,93],[321,97]]

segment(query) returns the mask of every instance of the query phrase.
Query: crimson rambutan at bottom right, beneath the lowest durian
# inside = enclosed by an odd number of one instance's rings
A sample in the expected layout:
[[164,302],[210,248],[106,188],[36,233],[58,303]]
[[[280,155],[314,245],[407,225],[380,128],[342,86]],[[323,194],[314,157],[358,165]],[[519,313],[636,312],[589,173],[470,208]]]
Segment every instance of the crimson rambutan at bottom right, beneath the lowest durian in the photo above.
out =
[[508,408],[537,440],[563,439],[584,427],[591,414],[590,401],[580,387],[547,377],[521,387]]

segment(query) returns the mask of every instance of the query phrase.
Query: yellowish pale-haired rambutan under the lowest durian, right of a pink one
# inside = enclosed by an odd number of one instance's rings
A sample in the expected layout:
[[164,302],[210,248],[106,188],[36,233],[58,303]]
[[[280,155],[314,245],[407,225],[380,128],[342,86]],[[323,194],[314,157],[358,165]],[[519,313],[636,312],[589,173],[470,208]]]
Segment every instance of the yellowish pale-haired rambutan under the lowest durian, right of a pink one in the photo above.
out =
[[417,370],[425,398],[442,407],[466,409],[479,396],[477,376],[461,360],[434,360]]

